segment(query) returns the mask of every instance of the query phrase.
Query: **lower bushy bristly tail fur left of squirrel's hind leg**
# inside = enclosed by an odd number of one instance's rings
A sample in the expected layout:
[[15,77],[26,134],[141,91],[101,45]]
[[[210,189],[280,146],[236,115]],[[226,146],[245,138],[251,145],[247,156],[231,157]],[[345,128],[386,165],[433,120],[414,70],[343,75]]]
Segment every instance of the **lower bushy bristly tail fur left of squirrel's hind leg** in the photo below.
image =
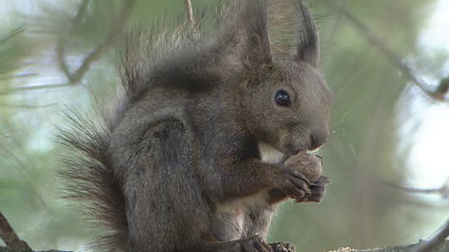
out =
[[[117,104],[123,106],[126,102]],[[72,111],[67,115],[69,128],[60,130],[58,139],[68,147],[60,159],[58,171],[62,197],[78,202],[88,223],[104,230],[92,244],[94,251],[126,251],[125,199],[107,155],[112,130],[123,107],[117,107],[115,111],[106,109],[107,106],[102,108],[105,109],[96,109],[95,115],[102,122]]]

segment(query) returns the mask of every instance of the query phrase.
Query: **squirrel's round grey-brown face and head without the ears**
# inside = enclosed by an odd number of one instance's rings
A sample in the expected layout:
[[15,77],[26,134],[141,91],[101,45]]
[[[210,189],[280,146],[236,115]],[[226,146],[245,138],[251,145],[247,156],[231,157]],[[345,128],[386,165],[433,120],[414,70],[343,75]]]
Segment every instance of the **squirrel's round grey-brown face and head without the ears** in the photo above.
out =
[[324,144],[332,94],[313,66],[281,59],[253,77],[242,104],[257,141],[287,156]]

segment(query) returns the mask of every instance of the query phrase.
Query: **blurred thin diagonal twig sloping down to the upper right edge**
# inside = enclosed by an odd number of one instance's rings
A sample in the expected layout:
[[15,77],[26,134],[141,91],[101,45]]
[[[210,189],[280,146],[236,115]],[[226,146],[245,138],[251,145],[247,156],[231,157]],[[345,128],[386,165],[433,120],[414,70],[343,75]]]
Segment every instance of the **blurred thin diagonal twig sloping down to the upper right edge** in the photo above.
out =
[[445,98],[445,94],[447,94],[448,91],[447,89],[445,90],[444,93],[442,93],[441,90],[439,90],[438,88],[435,91],[429,90],[429,84],[426,83],[419,76],[415,75],[411,67],[408,66],[406,62],[403,62],[403,60],[401,60],[401,57],[396,55],[396,53],[384,43],[384,41],[382,40],[382,38],[380,38],[380,36],[377,36],[377,34],[371,31],[367,25],[361,22],[361,20],[358,20],[358,18],[356,18],[356,16],[353,13],[349,12],[346,8],[335,3],[335,1],[326,0],[326,2],[333,9],[337,10],[338,13],[344,15],[349,21],[351,21],[354,27],[356,27],[359,31],[361,31],[362,34],[366,36],[366,40],[368,41],[368,43],[374,45],[378,50],[380,50],[380,52],[382,52],[382,54],[385,55],[385,57],[387,57],[387,59],[389,59],[389,61],[393,63],[399,69],[399,71],[401,71],[401,73],[403,73],[403,75],[406,76],[406,78],[408,78],[408,80],[415,83],[417,87],[420,87],[420,89],[425,94],[427,94],[432,99],[436,99],[440,102],[448,102],[448,99]]

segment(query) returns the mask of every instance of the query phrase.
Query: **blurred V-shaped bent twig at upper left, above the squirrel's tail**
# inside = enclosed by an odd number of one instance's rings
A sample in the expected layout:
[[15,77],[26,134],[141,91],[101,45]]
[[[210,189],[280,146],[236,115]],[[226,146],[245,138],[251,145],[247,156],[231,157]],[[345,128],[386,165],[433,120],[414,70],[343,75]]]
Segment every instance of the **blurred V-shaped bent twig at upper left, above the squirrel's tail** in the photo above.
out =
[[69,34],[67,34],[66,37],[60,37],[56,48],[60,68],[62,69],[62,71],[64,71],[65,75],[67,76],[67,78],[69,78],[69,81],[72,84],[79,83],[81,78],[91,67],[92,62],[97,60],[98,57],[100,57],[100,55],[102,54],[102,52],[104,52],[105,50],[107,50],[107,48],[113,45],[116,38],[118,38],[119,35],[122,34],[123,30],[126,27],[126,20],[128,20],[131,10],[133,9],[135,0],[123,0],[121,13],[117,18],[113,20],[112,28],[109,31],[109,34],[105,39],[105,41],[100,45],[98,45],[97,48],[95,48],[95,50],[93,50],[91,53],[89,53],[89,55],[87,55],[83,59],[81,66],[79,66],[79,68],[76,69],[74,73],[70,73],[67,66],[67,62],[65,60],[65,44],[67,43],[67,37],[73,33],[74,28],[77,25],[79,25],[79,22],[81,22],[83,16],[86,14],[88,3],[89,0],[83,0],[81,6],[79,7],[78,13],[76,14],[76,17],[74,18],[74,22],[72,23],[72,27],[69,31]]

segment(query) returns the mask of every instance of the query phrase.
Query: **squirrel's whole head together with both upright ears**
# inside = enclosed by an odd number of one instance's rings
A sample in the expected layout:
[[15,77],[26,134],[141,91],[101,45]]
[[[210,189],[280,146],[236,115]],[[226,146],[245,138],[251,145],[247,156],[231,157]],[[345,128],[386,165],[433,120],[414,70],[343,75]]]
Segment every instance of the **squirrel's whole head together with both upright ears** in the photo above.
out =
[[[281,3],[290,6],[280,10],[284,20],[276,20]],[[248,0],[245,8],[241,103],[246,127],[257,141],[287,156],[319,148],[329,134],[332,94],[316,69],[319,38],[308,7],[297,0]],[[270,39],[278,29],[293,29],[295,36]]]

